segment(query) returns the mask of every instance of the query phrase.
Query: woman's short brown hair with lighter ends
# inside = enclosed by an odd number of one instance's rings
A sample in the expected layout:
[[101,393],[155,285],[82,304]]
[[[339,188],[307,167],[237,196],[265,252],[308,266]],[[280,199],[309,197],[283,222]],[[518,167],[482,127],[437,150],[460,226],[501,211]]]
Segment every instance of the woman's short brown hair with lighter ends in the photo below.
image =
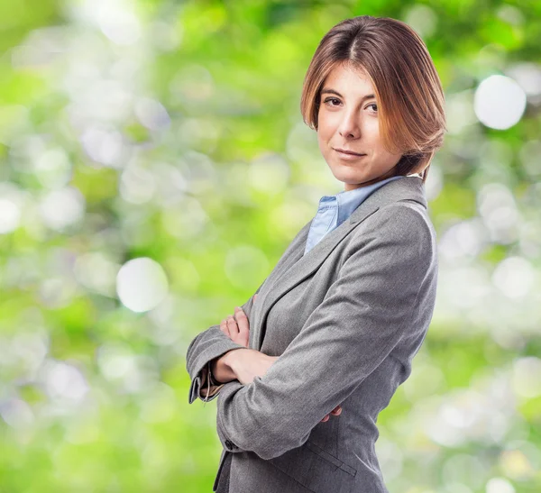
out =
[[317,130],[320,91],[339,63],[371,79],[383,145],[402,153],[396,175],[419,173],[444,143],[445,95],[425,42],[406,23],[361,15],[337,23],[317,46],[302,88],[300,111]]

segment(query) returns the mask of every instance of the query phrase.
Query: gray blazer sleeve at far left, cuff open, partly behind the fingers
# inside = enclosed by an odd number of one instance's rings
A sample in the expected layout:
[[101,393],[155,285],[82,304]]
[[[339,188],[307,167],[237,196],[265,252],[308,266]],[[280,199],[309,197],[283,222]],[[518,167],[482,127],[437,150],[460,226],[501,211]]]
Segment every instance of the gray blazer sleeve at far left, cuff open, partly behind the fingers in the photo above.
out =
[[[252,313],[253,297],[259,293],[263,284],[264,281],[261,286],[257,288],[252,297],[241,306],[249,323],[250,315]],[[208,380],[210,361],[222,356],[227,351],[235,349],[245,349],[245,347],[242,344],[233,342],[225,333],[223,333],[220,330],[220,324],[212,325],[206,329],[206,331],[198,333],[195,339],[189,343],[186,354],[186,370],[188,370],[191,379],[188,393],[189,404],[194,402],[197,397],[208,402],[218,396],[220,389],[223,388],[225,384],[212,385],[213,382]],[[211,385],[208,386],[208,383]]]

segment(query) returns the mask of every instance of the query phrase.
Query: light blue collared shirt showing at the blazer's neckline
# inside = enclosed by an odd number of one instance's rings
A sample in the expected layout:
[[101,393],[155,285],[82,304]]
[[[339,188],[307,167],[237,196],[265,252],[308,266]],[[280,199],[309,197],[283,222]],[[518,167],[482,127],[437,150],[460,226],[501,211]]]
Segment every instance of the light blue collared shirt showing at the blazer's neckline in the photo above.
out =
[[321,242],[327,233],[344,223],[372,192],[393,179],[399,178],[405,177],[390,177],[368,187],[353,188],[353,190],[342,191],[335,196],[322,196],[319,200],[316,217],[314,217],[310,225],[304,254],[306,255],[318,242]]

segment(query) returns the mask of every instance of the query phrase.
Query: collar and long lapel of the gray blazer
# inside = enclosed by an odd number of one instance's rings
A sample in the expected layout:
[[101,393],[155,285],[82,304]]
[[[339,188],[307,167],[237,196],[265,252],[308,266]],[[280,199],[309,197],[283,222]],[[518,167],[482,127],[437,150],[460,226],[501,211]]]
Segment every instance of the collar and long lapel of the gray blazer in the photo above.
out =
[[[265,332],[267,316],[271,307],[284,296],[290,289],[298,285],[304,279],[312,275],[319,266],[326,260],[331,251],[353,232],[355,226],[362,223],[367,217],[374,214],[385,205],[399,202],[400,200],[413,200],[426,208],[426,195],[423,180],[417,176],[395,179],[378,188],[368,196],[344,221],[323,239],[303,255],[307,242],[307,235],[310,229],[310,220],[290,243],[277,264],[276,268],[267,279],[270,287],[266,288],[266,295],[258,297],[258,302],[252,308],[252,320],[256,321],[250,330],[250,347],[256,350],[261,349]],[[278,282],[280,280],[280,283]],[[253,329],[253,330],[252,330]]]

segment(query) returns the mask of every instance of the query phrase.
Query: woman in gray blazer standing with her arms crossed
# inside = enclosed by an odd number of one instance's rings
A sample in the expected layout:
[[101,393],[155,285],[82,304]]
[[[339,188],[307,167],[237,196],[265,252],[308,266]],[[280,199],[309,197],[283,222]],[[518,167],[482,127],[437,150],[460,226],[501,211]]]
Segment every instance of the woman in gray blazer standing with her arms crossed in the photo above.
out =
[[387,491],[376,420],[434,310],[424,184],[444,105],[405,23],[346,19],[317,47],[301,112],[344,192],[322,197],[256,294],[188,347],[189,402],[220,396],[214,490]]

